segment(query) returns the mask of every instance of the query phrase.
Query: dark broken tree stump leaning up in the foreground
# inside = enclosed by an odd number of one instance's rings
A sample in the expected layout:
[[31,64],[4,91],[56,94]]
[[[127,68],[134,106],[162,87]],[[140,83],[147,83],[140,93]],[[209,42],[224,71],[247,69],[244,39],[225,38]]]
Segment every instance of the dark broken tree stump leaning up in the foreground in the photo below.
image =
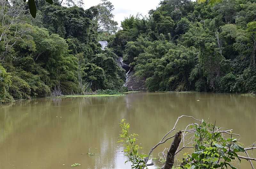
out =
[[162,166],[161,169],[171,169],[174,163],[174,157],[175,157],[175,152],[177,151],[179,145],[180,145],[180,141],[181,141],[181,131],[179,131],[178,133],[176,133],[172,145],[167,153],[166,156],[166,161],[164,166]]

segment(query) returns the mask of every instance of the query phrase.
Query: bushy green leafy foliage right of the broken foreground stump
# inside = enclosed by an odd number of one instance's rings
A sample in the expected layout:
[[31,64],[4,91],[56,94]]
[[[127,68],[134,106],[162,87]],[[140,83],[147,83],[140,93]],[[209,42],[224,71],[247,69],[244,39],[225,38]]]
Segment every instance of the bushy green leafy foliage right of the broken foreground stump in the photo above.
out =
[[195,152],[187,155],[181,163],[181,168],[228,168],[236,169],[232,165],[234,160],[239,160],[237,152],[244,152],[237,139],[232,137],[225,138],[215,124],[207,124],[204,120],[200,126],[195,126]]

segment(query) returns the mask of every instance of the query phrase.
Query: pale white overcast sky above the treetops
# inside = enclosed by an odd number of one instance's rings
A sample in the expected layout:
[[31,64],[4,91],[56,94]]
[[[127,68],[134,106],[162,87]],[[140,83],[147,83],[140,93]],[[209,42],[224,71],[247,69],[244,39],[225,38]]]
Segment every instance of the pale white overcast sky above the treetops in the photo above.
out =
[[[115,15],[114,20],[118,22],[118,26],[121,25],[121,21],[130,15],[136,16],[139,12],[143,16],[148,14],[151,9],[156,9],[160,0],[108,0],[114,5]],[[100,0],[84,0],[84,8],[88,9],[91,6],[100,4]]]

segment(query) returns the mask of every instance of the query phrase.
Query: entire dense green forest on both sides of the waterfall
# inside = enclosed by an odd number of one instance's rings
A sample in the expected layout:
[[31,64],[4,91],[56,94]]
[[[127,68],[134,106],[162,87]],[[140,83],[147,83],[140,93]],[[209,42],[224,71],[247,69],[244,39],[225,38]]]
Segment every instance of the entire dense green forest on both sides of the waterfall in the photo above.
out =
[[[148,91],[256,92],[256,1],[164,0],[116,32],[107,0],[1,1],[0,102],[123,90],[123,57]],[[109,46],[101,50],[98,40]]]

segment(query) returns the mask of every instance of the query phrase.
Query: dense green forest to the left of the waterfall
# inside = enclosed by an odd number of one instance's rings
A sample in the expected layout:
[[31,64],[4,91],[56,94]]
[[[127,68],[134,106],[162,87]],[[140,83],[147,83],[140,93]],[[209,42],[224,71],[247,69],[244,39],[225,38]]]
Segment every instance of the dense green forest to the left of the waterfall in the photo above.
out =
[[0,102],[123,87],[116,54],[98,43],[117,29],[113,5],[67,3],[38,0],[34,19],[23,0],[1,1]]

